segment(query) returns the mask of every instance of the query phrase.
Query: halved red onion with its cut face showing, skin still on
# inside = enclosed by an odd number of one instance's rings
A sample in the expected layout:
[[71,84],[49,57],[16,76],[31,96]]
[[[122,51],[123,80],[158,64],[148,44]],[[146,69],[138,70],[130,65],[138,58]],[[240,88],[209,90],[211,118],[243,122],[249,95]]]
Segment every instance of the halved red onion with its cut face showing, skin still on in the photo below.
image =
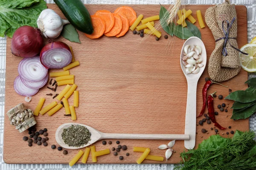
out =
[[41,63],[46,68],[64,68],[72,60],[69,46],[60,41],[50,42],[40,52]]

